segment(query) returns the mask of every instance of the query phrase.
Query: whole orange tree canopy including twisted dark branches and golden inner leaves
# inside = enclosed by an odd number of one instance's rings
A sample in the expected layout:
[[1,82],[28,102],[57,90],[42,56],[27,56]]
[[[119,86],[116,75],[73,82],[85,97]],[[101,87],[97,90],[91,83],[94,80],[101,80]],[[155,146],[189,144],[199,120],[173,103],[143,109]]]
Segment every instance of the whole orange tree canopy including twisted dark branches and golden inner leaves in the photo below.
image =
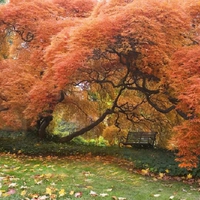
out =
[[[78,121],[170,132],[182,167],[200,152],[198,0],[11,0],[0,6],[1,128]],[[103,127],[103,129],[105,129]],[[166,136],[167,137],[167,136]]]

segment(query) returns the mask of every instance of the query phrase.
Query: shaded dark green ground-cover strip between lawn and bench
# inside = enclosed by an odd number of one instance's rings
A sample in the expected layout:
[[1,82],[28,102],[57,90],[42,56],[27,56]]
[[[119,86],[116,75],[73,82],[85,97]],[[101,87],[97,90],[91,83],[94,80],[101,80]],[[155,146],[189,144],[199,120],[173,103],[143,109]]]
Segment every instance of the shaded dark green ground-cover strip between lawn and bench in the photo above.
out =
[[134,163],[136,169],[149,169],[152,173],[165,173],[168,171],[170,176],[186,177],[191,174],[192,177],[200,177],[200,164],[197,168],[186,170],[179,168],[175,161],[173,152],[162,149],[136,149],[119,147],[99,147],[87,146],[83,144],[59,144],[52,141],[39,141],[34,134],[23,135],[21,133],[1,133],[0,152],[18,153],[33,156],[70,156],[91,153],[94,156],[115,156],[123,158]]

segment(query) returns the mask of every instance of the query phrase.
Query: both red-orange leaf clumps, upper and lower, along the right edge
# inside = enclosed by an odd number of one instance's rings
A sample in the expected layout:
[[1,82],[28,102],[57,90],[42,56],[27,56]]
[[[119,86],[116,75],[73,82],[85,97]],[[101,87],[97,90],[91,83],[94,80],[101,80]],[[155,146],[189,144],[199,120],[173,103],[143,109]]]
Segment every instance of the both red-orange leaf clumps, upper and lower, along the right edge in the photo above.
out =
[[168,70],[171,86],[179,99],[177,108],[192,117],[175,128],[172,144],[179,149],[181,167],[195,167],[200,155],[200,47],[180,49]]

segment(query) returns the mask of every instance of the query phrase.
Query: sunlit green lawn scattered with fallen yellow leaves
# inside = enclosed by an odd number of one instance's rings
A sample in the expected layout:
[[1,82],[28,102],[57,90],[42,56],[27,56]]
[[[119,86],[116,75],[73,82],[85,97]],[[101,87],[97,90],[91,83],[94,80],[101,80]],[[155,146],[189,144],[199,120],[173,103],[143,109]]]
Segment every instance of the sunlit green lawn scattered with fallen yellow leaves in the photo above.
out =
[[111,157],[0,155],[0,198],[200,200],[195,185],[128,171]]

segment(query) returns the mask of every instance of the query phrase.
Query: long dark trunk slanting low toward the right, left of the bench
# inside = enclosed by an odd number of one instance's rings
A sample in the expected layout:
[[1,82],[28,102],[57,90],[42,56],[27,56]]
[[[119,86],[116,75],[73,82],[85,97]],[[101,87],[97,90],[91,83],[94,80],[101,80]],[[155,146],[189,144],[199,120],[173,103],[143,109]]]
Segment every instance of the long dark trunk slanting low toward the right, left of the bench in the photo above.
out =
[[113,111],[111,109],[107,109],[100,117],[99,119],[97,119],[96,121],[94,121],[93,123],[91,123],[90,125],[82,128],[81,130],[79,131],[76,131],[74,133],[71,133],[70,135],[66,136],[66,137],[63,137],[63,138],[60,138],[59,142],[61,143],[64,143],[64,142],[69,142],[71,141],[73,138],[79,136],[79,135],[83,135],[84,133],[90,131],[91,129],[93,129],[95,126],[97,126],[98,124],[100,124],[105,118],[107,115],[110,115],[112,114]]

